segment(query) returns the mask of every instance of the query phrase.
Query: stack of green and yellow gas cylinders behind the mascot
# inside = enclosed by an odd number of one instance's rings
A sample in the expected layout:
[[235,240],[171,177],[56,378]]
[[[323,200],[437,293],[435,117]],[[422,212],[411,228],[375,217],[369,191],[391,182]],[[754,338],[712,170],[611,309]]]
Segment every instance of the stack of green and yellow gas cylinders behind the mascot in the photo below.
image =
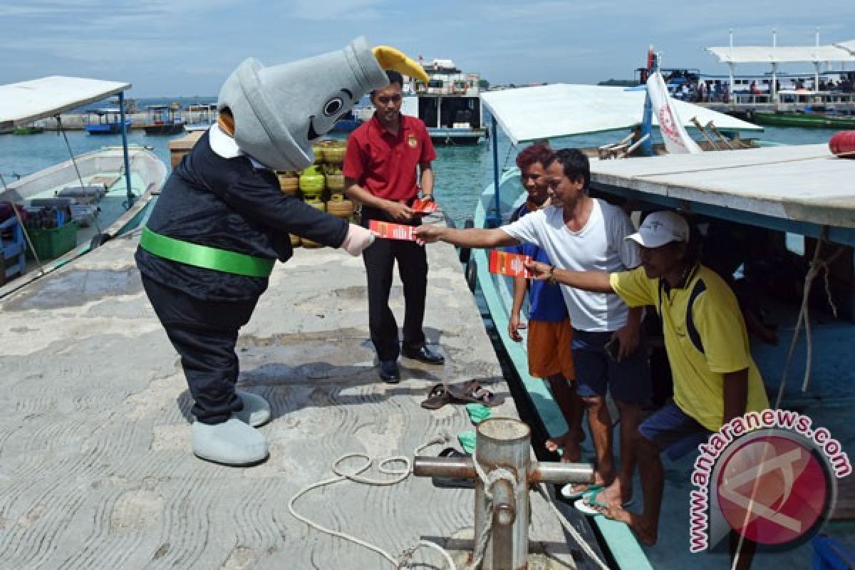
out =
[[[313,208],[353,221],[354,205],[345,199],[345,175],[341,173],[346,145],[344,140],[323,140],[312,144],[315,164],[300,173],[277,173],[282,191],[300,197]],[[301,244],[309,248],[322,247],[317,242],[295,235],[291,236],[291,243],[295,247]]]

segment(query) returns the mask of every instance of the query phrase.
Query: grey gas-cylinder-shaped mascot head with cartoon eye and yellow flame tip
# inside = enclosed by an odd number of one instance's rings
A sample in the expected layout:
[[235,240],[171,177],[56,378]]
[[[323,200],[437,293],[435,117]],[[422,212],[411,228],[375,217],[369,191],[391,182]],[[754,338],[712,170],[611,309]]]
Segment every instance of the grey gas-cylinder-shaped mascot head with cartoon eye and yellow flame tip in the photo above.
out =
[[217,109],[231,111],[240,150],[274,170],[301,170],[315,160],[313,140],[363,95],[388,85],[384,69],[428,80],[400,51],[357,38],[344,50],[269,68],[247,59],[222,85]]

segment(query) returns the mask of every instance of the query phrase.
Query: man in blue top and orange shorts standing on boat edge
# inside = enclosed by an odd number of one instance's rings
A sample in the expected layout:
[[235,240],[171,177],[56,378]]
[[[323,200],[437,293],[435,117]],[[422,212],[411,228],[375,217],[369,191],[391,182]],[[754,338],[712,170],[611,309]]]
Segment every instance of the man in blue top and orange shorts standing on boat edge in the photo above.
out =
[[[526,202],[511,214],[511,221],[550,205],[549,184],[546,181],[544,165],[551,156],[552,150],[545,144],[532,144],[516,156],[516,166],[520,168],[522,185],[528,192],[528,197]],[[511,246],[508,250],[538,261],[550,262],[546,252],[534,244]],[[581,398],[572,385],[575,379],[573,328],[567,305],[558,285],[529,282],[524,277],[516,277],[513,306],[508,320],[508,334],[516,342],[522,341],[520,311],[527,293],[528,373],[549,383],[552,396],[555,397],[568,427],[567,432],[557,438],[547,439],[545,447],[552,452],[561,450],[561,461],[577,462],[581,460],[579,442],[584,437],[581,423],[583,410]]]

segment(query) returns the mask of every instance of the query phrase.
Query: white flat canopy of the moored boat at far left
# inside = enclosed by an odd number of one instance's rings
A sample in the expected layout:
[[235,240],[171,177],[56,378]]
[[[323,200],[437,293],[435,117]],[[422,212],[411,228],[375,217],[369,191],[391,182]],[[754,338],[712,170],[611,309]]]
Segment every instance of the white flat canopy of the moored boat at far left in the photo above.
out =
[[130,83],[61,75],[0,85],[0,128],[60,115],[130,88]]

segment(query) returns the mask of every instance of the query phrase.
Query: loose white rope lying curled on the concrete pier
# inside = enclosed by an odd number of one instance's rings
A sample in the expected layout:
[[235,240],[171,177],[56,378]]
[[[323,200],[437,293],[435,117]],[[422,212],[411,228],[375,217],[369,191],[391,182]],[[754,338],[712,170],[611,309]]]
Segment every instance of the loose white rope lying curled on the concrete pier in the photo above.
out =
[[[428,441],[427,443],[418,446],[414,452],[414,455],[419,455],[420,453],[422,453],[422,450],[424,450],[425,448],[428,448],[429,446],[431,446],[433,444],[445,444],[446,442],[448,442],[450,440],[451,440],[451,437],[447,433],[445,433],[442,436],[440,436],[439,438],[433,438],[430,441]],[[345,461],[347,459],[351,459],[353,457],[361,457],[365,460],[365,463],[362,467],[359,467],[356,470],[348,473],[341,468],[340,464],[342,461]],[[386,467],[388,464],[396,463],[396,462],[404,464],[404,467],[401,467],[401,468]],[[404,457],[404,455],[393,455],[391,457],[386,457],[385,459],[380,460],[380,463],[377,466],[377,468],[380,470],[380,473],[386,473],[387,475],[396,475],[396,477],[394,477],[393,479],[372,479],[369,477],[362,477],[361,473],[364,473],[369,467],[371,467],[371,464],[372,464],[372,460],[369,457],[369,455],[364,454],[362,452],[355,452],[355,453],[348,453],[345,455],[341,455],[337,460],[333,461],[333,465],[332,465],[333,473],[336,473],[337,477],[318,481],[318,482],[313,483],[311,485],[308,485],[308,486],[304,487],[302,490],[298,491],[297,494],[295,494],[293,497],[291,497],[291,500],[288,501],[288,511],[291,512],[291,514],[293,515],[294,518],[301,520],[306,525],[314,528],[316,531],[323,532],[324,534],[328,534],[328,535],[333,536],[333,537],[342,538],[343,540],[346,540],[346,541],[351,542],[353,544],[358,544],[359,546],[362,546],[363,548],[366,548],[366,549],[369,549],[373,552],[376,552],[377,554],[386,558],[387,561],[390,561],[392,563],[392,565],[396,568],[396,570],[402,570],[404,568],[410,568],[410,562],[412,561],[413,554],[416,552],[417,549],[420,549],[420,548],[430,548],[430,549],[437,550],[439,552],[439,554],[441,554],[445,558],[445,562],[448,564],[449,569],[450,570],[457,570],[457,566],[455,565],[454,561],[451,559],[451,555],[449,555],[445,551],[445,549],[443,549],[441,546],[439,546],[439,544],[434,544],[428,540],[422,539],[422,540],[419,540],[419,542],[416,544],[416,546],[413,546],[409,549],[405,549],[404,552],[400,556],[398,556],[398,558],[395,558],[394,556],[392,556],[391,554],[386,552],[386,550],[381,549],[379,546],[376,546],[374,544],[370,544],[369,542],[366,542],[360,538],[356,538],[356,537],[354,537],[350,534],[347,534],[345,532],[339,532],[339,531],[333,530],[331,528],[327,528],[326,526],[322,526],[322,525],[310,520],[308,517],[305,517],[302,514],[299,514],[297,512],[297,510],[294,508],[294,503],[297,502],[297,500],[300,497],[303,497],[309,491],[312,491],[313,489],[317,489],[319,487],[323,487],[326,485],[333,485],[333,483],[339,483],[339,481],[344,481],[345,479],[350,479],[351,481],[355,481],[357,483],[362,483],[363,485],[388,486],[388,485],[397,485],[398,483],[404,481],[404,479],[407,479],[410,476],[410,473],[412,473],[412,464],[410,462],[410,459],[408,457]]]

